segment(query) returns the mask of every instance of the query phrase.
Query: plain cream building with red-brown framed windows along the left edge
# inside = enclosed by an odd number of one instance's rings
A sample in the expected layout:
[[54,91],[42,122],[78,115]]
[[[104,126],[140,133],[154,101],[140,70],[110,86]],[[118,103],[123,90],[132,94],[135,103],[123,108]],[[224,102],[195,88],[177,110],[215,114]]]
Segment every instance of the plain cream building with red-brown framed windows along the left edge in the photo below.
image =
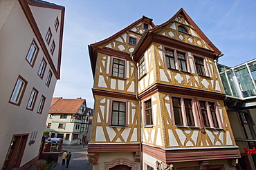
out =
[[0,1],[1,169],[37,162],[48,109],[60,79],[64,7]]

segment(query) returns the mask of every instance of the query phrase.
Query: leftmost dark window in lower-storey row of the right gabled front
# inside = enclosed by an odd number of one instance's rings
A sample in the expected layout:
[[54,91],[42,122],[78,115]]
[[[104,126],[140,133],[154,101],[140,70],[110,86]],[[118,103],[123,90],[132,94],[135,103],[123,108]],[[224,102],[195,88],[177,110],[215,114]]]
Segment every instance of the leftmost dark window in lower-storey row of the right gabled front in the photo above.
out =
[[172,107],[174,111],[175,125],[183,125],[183,118],[181,113],[181,98],[172,98]]

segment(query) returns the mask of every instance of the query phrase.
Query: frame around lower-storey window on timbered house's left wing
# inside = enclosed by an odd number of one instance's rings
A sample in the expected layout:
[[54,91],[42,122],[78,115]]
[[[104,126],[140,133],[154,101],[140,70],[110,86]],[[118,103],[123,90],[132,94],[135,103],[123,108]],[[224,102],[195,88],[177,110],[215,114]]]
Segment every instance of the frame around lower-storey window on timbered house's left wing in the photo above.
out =
[[[118,103],[125,103],[125,125],[119,125],[120,123],[118,122],[118,125],[113,125],[112,119],[113,119],[113,102],[118,102]],[[110,101],[110,108],[109,108],[109,126],[111,127],[127,127],[127,100],[118,100],[118,99],[111,99]],[[119,114],[118,114],[119,118]]]

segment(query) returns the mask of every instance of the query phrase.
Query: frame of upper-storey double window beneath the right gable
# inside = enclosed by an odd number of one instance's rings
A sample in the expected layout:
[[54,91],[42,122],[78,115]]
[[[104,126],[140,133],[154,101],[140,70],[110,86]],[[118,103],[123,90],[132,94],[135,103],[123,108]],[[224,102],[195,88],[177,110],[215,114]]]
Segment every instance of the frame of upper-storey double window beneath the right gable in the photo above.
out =
[[[171,51],[173,53],[173,56],[167,56],[166,51]],[[169,69],[173,69],[173,70],[179,70],[181,72],[191,72],[190,63],[189,63],[189,59],[188,59],[188,52],[165,46],[165,47],[163,47],[163,54],[165,54],[165,56],[164,56],[165,67],[167,67]],[[179,59],[178,54],[184,54],[185,59]],[[172,67],[172,65],[167,65],[167,57],[173,59],[174,67]],[[181,60],[185,61],[186,70],[183,70],[180,67],[179,61],[181,61]]]

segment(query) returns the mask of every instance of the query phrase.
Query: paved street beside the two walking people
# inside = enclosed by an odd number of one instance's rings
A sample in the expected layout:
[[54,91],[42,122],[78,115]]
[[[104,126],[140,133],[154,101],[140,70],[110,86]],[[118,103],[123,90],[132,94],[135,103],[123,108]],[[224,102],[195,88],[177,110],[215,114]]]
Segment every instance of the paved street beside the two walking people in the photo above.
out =
[[62,150],[71,151],[72,157],[68,168],[66,164],[62,165],[62,157],[59,157],[58,163],[52,170],[74,169],[74,170],[92,170],[93,164],[87,164],[87,145],[63,145]]

